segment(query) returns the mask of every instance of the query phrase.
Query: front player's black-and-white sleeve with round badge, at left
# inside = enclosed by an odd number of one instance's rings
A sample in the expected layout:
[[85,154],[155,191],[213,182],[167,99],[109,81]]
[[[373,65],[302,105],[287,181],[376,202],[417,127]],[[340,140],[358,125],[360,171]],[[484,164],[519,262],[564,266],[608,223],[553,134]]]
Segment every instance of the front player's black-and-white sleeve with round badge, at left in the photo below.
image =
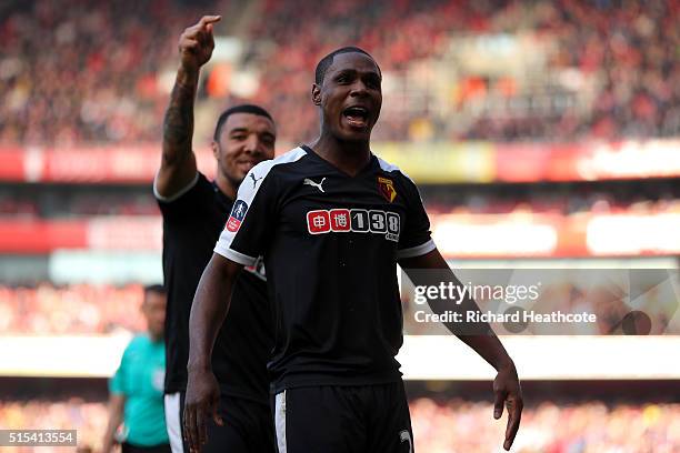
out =
[[214,246],[216,253],[239,264],[253,265],[264,254],[277,222],[278,193],[271,162],[259,163],[246,175]]

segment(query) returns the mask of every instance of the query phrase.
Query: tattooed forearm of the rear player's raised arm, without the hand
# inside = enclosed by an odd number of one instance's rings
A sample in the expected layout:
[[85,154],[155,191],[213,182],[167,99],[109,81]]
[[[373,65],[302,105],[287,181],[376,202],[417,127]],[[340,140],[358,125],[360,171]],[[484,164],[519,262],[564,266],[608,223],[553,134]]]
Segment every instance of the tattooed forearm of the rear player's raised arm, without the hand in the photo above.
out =
[[198,71],[180,69],[163,119],[163,163],[174,164],[191,154],[193,100]]

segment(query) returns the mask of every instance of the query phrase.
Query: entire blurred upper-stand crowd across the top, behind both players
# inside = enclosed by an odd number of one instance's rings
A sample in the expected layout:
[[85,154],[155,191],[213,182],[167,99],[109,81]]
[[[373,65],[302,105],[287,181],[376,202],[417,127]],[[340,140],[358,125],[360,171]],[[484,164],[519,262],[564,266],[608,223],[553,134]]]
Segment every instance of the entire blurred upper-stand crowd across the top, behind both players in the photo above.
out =
[[[158,141],[177,38],[224,4],[30,0],[3,7],[0,143]],[[346,44],[372,52],[386,74],[377,139],[617,140],[680,133],[674,0],[344,0],[304,8],[296,0],[260,0],[254,11],[242,24],[246,50],[237,66],[260,74],[248,100],[274,113],[287,142],[316,135],[317,112],[309,101],[314,64]],[[470,37],[526,36],[550,43],[540,48],[541,67],[470,70],[451,68],[454,60],[448,60]],[[433,82],[441,78],[443,84]],[[229,89],[208,91],[221,103],[243,100]],[[522,108],[538,99],[556,108],[549,114]],[[488,108],[494,103],[511,109]]]

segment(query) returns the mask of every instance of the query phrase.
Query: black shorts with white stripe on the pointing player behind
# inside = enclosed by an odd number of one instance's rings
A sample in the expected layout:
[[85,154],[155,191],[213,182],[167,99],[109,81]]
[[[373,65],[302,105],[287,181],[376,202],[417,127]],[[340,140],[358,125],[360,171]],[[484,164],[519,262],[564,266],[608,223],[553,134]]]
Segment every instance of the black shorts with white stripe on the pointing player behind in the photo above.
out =
[[[166,395],[166,424],[172,453],[188,453],[182,437],[184,392]],[[207,421],[208,440],[201,453],[274,453],[271,410],[267,404],[222,395],[218,413],[224,424]]]

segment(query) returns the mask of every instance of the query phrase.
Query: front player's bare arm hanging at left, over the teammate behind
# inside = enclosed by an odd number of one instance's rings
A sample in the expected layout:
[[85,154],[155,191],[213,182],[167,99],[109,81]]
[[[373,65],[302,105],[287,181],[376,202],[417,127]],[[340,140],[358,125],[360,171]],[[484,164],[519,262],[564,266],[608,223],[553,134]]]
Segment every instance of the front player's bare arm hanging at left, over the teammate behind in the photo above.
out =
[[212,348],[224,322],[237,275],[243,266],[214,253],[196,290],[189,316],[189,363],[184,399],[184,439],[192,452],[206,442],[206,419],[218,416],[220,387],[212,372]]

